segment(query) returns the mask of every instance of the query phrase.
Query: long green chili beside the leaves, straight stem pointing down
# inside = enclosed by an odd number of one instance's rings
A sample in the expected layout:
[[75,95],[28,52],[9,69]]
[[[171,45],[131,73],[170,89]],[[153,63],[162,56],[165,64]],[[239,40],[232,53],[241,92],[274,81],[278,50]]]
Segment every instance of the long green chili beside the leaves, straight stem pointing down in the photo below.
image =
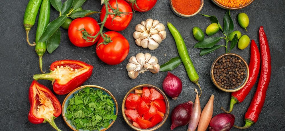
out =
[[50,22],[50,0],[43,0],[38,17],[38,28],[36,29],[36,54],[39,58],[40,71],[42,71],[42,56],[46,52],[46,42],[38,42],[40,36],[44,33],[46,26]]

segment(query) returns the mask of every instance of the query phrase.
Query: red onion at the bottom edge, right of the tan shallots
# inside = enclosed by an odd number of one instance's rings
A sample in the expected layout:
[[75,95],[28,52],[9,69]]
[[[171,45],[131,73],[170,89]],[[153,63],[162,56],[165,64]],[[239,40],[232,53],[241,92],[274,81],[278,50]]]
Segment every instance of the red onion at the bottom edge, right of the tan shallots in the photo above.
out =
[[233,114],[220,113],[210,121],[209,131],[229,131],[235,123]]

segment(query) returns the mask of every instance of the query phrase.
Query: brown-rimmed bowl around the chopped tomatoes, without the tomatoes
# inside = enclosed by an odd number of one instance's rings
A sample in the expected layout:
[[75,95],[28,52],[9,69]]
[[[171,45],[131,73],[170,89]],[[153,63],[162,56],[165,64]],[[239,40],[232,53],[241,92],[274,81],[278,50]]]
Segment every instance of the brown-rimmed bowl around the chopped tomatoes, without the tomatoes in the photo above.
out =
[[[151,87],[151,88],[154,88],[156,89],[159,93],[161,93],[161,95],[164,97],[164,101],[165,101],[165,104],[166,104],[166,113],[164,114],[164,118],[163,120],[156,124],[156,126],[152,127],[152,128],[148,128],[148,129],[141,129],[141,128],[137,128],[135,126],[133,126],[133,124],[128,120],[126,114],[125,114],[125,103],[126,103],[126,99],[127,97],[129,96],[130,93],[133,93],[135,91],[135,89],[141,89],[143,87]],[[138,131],[153,131],[153,130],[157,130],[158,128],[160,128],[164,122],[167,120],[167,117],[168,117],[168,114],[169,114],[169,102],[168,102],[168,99],[167,99],[167,96],[164,94],[164,92],[159,89],[158,87],[154,86],[154,85],[148,85],[148,84],[143,84],[143,85],[137,85],[135,87],[133,87],[132,89],[130,89],[128,91],[128,93],[125,95],[124,99],[123,99],[123,103],[122,103],[122,114],[123,114],[123,117],[125,119],[125,121],[127,122],[127,124],[129,126],[131,126],[131,128],[135,129],[135,130],[138,130]]]

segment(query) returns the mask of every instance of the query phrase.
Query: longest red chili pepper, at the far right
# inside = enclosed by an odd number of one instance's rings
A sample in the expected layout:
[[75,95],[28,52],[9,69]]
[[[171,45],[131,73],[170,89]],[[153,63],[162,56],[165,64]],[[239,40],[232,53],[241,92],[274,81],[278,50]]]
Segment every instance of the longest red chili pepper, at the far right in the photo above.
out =
[[239,129],[247,129],[257,122],[258,116],[265,101],[266,90],[270,82],[271,57],[267,37],[263,30],[263,26],[260,26],[259,28],[259,44],[262,62],[260,78],[258,80],[257,89],[253,96],[251,104],[247,109],[247,112],[245,113],[245,126],[239,127],[234,125],[236,128]]

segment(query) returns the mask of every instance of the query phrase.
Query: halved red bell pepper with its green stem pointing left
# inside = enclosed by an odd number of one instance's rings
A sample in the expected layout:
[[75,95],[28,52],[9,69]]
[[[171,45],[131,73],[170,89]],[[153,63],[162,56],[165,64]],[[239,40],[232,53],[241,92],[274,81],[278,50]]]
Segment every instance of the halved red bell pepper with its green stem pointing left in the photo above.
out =
[[50,73],[36,74],[35,80],[52,81],[53,90],[64,95],[82,85],[92,74],[93,66],[78,60],[59,60],[50,65]]

